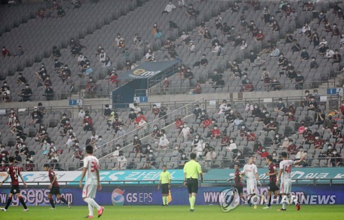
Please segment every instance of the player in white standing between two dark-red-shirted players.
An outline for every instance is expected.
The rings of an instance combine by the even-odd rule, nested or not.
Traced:
[[[251,206],[251,198],[252,196],[256,195],[257,191],[257,181],[259,186],[261,186],[261,182],[259,181],[258,170],[257,166],[254,164],[255,157],[250,156],[248,157],[248,164],[245,164],[244,170],[241,172],[242,175],[246,176],[246,184],[247,184],[247,194],[248,194],[248,205]],[[255,208],[257,206],[255,205]]]

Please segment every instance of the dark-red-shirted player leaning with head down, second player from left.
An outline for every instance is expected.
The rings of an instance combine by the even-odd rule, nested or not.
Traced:
[[[45,171],[49,173],[50,192],[47,194],[47,198],[49,199],[50,204],[52,204],[51,209],[55,209],[55,204],[54,204],[54,200],[52,199],[52,195],[55,195],[56,199],[60,199],[61,201],[63,201],[63,203],[67,204],[68,208],[70,208],[71,203],[68,202],[65,198],[61,197],[60,186],[58,186],[57,177],[55,175],[54,170],[50,168],[49,164],[44,164],[43,168]]]

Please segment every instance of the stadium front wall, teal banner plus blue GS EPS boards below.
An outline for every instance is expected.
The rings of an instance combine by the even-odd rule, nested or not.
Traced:
[[[100,179],[103,189],[97,193],[96,201],[102,205],[160,205],[161,192],[157,188],[161,170],[102,170]],[[171,205],[188,205],[188,192],[182,186],[183,170],[170,170],[173,181],[171,186]],[[197,204],[216,205],[224,199],[222,190],[233,188],[229,179],[233,169],[212,169],[206,173],[204,183],[197,195]],[[263,187],[258,188],[259,195],[266,195],[268,177],[266,168],[259,168],[259,178]],[[82,190],[78,188],[80,171],[56,171],[63,197],[76,206],[85,205],[81,198]],[[0,181],[6,173],[0,173]],[[47,200],[50,184],[47,172],[23,172],[28,188],[21,187],[21,194],[30,206],[50,206]],[[344,204],[344,170],[343,168],[293,168],[294,181],[292,192],[305,204]],[[330,181],[332,179],[332,181]],[[316,181],[314,181],[316,180]],[[330,184],[331,183],[331,184]],[[0,206],[5,205],[10,192],[10,181],[0,188]],[[246,188],[244,188],[244,194]],[[14,206],[19,204],[14,198]],[[277,203],[278,198],[272,202]],[[57,203],[61,201],[56,200]],[[264,203],[264,200],[261,200]],[[242,203],[247,203],[246,199]]]

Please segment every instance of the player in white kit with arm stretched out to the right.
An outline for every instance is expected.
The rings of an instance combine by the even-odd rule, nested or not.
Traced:
[[[281,195],[282,195],[282,208],[279,211],[286,211],[286,197],[289,197],[290,192],[292,192],[292,165],[297,165],[305,159],[305,157],[301,158],[298,161],[293,161],[292,159],[287,159],[288,153],[282,152],[281,153],[282,161],[279,163],[279,175],[276,180],[276,185],[279,184],[279,179],[281,179]],[[295,199],[295,205],[297,210],[300,210],[300,203]]]

